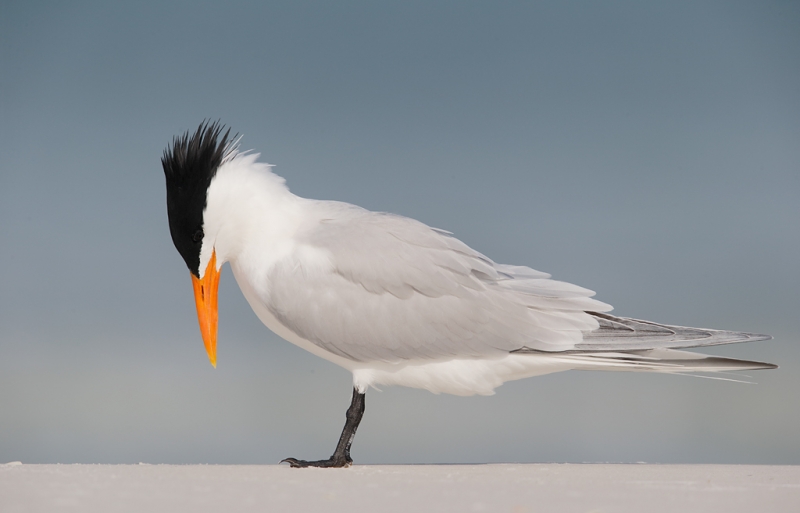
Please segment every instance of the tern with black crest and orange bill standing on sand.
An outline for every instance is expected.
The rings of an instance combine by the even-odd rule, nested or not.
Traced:
[[[594,292],[500,264],[452,233],[338,201],[292,194],[219,121],[174,136],[161,163],[175,248],[188,267],[200,333],[217,360],[222,265],[283,339],[353,375],[330,458],[348,467],[370,387],[491,395],[509,380],[567,370],[668,374],[774,369],[685,348],[772,337],[618,317]]]

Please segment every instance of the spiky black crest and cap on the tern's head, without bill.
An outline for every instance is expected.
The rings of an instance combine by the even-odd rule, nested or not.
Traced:
[[[203,121],[194,134],[176,136],[164,150],[161,165],[167,179],[169,232],[189,270],[200,276],[203,211],[211,179],[233,151],[230,129]]]

